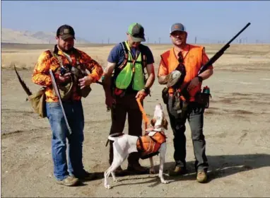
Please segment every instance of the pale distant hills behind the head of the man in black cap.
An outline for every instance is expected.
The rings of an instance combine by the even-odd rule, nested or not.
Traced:
[[[55,43],[54,32],[30,32],[28,30],[17,31],[8,28],[1,28],[1,42],[25,43],[25,44],[49,44]],[[90,43],[90,41],[76,36],[76,43]]]

